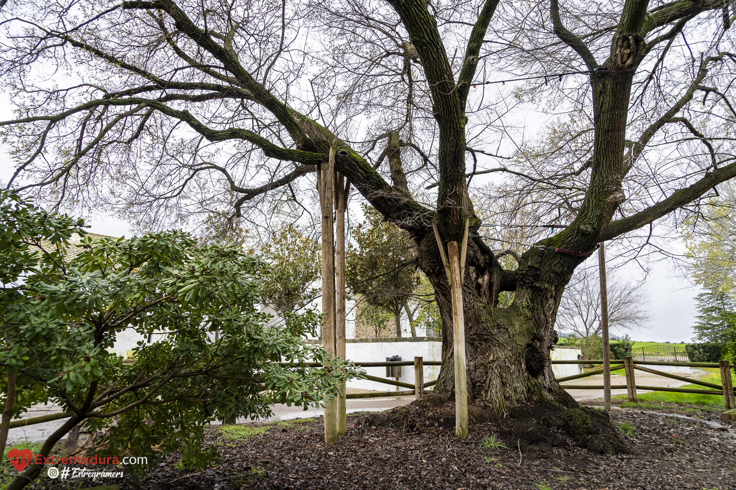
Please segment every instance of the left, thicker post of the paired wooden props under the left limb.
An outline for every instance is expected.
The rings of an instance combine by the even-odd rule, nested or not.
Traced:
[[[330,147],[330,159],[320,165],[319,206],[322,212],[322,347],[336,356],[335,345],[335,255],[333,248],[333,169],[335,148]],[[325,404],[325,443],[337,442],[337,400]]]

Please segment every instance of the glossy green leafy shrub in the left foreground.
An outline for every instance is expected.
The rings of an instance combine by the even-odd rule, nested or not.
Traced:
[[[269,264],[237,245],[183,231],[95,238],[79,220],[0,199],[0,392],[14,372],[13,417],[57,403],[75,413],[67,430],[107,429],[100,455],[178,451],[202,468],[216,453],[202,444],[210,422],[267,417],[273,403],[318,406],[359,373],[302,339],[316,334],[316,312],[268,325],[259,303]],[[138,342],[129,364],[110,352],[124,331],[160,335]],[[308,360],[323,367],[300,365]],[[39,474],[30,464],[11,485]]]

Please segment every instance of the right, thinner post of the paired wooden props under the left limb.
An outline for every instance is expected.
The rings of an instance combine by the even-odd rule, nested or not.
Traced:
[[[335,185],[335,285],[336,285],[336,323],[335,342],[337,356],[345,359],[345,179],[336,173]],[[345,383],[342,383],[341,396],[337,400],[337,431],[341,436],[347,432]]]

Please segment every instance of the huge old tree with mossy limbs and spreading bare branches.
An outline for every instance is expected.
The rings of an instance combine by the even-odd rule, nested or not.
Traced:
[[[723,0],[53,3],[5,13],[11,188],[114,205],[143,228],[255,222],[269,191],[314,199],[334,145],[336,170],[417,242],[447,397],[450,288],[432,226],[459,241],[470,218],[468,393],[488,413],[575,406],[548,355],[573,270],[736,176]],[[526,81],[485,83],[512,79]],[[536,146],[520,140],[530,108],[551,121]],[[469,182],[491,172],[542,223],[570,225],[515,269],[478,237]]]

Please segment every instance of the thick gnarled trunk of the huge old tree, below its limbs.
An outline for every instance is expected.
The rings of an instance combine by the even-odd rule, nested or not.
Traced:
[[[454,397],[450,288],[432,238],[420,243],[420,257],[442,312],[443,365],[436,392]],[[470,403],[489,415],[502,416],[520,403],[577,406],[555,381],[549,351],[557,341],[553,325],[562,291],[581,259],[550,254],[528,251],[510,272],[500,269],[481,240],[468,243],[463,284],[467,392]],[[502,290],[516,291],[509,308],[495,306]]]

